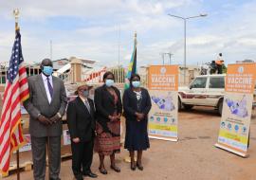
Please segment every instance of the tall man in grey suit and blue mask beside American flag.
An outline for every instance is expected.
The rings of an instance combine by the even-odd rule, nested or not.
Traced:
[[[42,73],[28,78],[30,97],[24,106],[30,116],[35,180],[46,177],[46,143],[49,145],[49,179],[60,180],[62,117],[67,103],[64,82],[52,76],[52,62],[41,63]]]

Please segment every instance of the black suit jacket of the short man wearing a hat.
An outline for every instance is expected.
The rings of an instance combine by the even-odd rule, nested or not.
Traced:
[[[90,112],[81,98],[70,101],[67,106],[67,125],[71,138],[79,137],[82,142],[92,140],[95,135],[95,108],[92,99],[88,99]]]

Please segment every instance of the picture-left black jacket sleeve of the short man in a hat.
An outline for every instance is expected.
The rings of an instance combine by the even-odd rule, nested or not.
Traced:
[[[76,108],[72,102],[70,102],[67,106],[66,119],[71,138],[78,137]]]

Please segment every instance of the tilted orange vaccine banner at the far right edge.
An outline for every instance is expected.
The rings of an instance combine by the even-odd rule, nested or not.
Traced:
[[[216,147],[247,156],[255,85],[255,63],[229,64]]]

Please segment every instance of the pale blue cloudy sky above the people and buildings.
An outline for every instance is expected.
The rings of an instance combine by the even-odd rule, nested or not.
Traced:
[[[137,64],[184,63],[182,17],[187,20],[187,64],[208,63],[223,53],[225,63],[256,60],[256,0],[1,0],[0,62],[14,41],[13,9],[26,62],[75,56],[101,65],[127,66],[137,32]],[[165,63],[169,57],[165,56]]]

